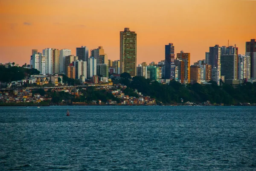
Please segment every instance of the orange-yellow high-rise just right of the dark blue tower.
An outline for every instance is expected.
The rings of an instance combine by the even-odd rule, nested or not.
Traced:
[[[177,53],[177,59],[184,61],[184,83],[190,83],[190,53],[180,51]]]

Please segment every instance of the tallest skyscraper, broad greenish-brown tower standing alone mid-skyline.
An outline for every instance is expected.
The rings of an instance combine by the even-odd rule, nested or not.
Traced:
[[[120,73],[128,72],[136,76],[137,66],[137,34],[125,28],[120,32]]]

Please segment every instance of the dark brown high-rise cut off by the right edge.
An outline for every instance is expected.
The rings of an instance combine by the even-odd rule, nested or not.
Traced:
[[[251,78],[256,78],[256,40],[251,39],[245,43],[245,55],[250,56]]]

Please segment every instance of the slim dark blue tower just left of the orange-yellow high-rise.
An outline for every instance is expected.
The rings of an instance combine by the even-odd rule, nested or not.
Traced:
[[[175,78],[175,53],[173,43],[165,45],[165,78],[174,79]]]

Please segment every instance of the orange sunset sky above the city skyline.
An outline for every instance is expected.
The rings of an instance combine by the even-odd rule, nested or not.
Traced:
[[[0,63],[29,64],[31,49],[103,46],[119,59],[119,32],[137,33],[137,64],[164,59],[164,45],[175,54],[191,53],[191,64],[209,46],[239,47],[256,38],[253,0],[0,0]],[[90,54],[89,54],[90,55]]]

